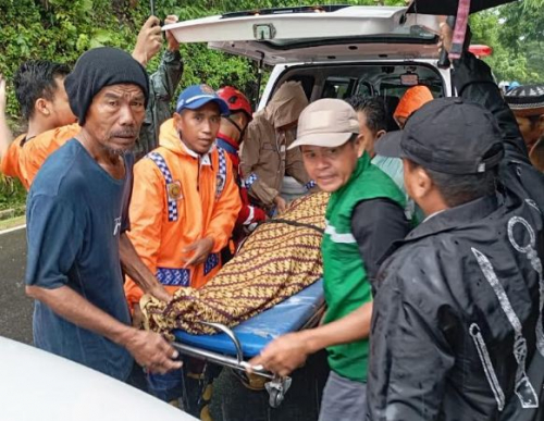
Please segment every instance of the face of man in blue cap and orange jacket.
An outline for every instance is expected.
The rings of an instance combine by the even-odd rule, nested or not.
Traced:
[[[182,141],[196,153],[207,153],[215,141],[221,114],[215,102],[208,102],[197,110],[183,110],[174,113],[174,124]]]

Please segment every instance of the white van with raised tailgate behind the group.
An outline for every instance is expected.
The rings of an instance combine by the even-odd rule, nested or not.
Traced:
[[[226,13],[168,25],[180,42],[273,66],[260,98],[264,108],[280,85],[301,83],[308,99],[384,98],[393,114],[415,85],[435,98],[452,96],[449,69],[438,69],[438,17],[390,7],[297,7]],[[282,196],[305,189],[286,176]]]

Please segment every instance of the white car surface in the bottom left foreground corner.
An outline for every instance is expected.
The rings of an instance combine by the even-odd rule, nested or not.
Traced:
[[[0,337],[2,421],[189,421],[196,418],[84,366]]]

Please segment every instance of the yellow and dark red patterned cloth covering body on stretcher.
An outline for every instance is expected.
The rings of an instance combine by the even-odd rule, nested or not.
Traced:
[[[281,216],[260,225],[238,253],[203,287],[182,287],[170,304],[149,295],[140,300],[148,330],[165,334],[182,329],[213,334],[200,321],[233,327],[319,280],[322,231],[329,194],[293,202]]]

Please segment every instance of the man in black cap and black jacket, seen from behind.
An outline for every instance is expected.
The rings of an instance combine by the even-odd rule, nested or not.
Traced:
[[[378,275],[368,420],[544,417],[544,181],[490,69],[455,66],[376,148],[428,216]]]

